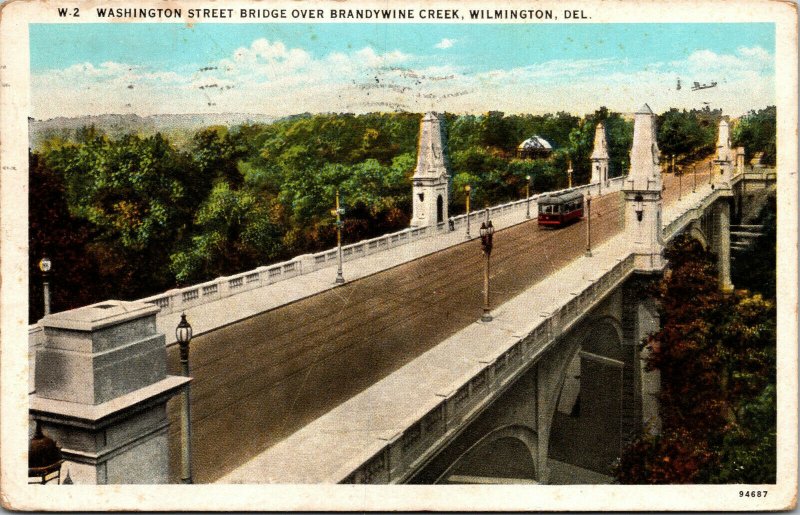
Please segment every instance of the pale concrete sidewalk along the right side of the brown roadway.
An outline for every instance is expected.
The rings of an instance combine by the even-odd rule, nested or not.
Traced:
[[[670,182],[670,179],[667,179]],[[665,225],[680,218],[692,206],[712,196],[708,184],[700,185],[692,194],[691,187],[677,202],[677,191],[665,192]],[[611,197],[604,199],[601,212],[608,215],[613,210]],[[601,222],[603,223],[603,222]],[[599,228],[603,234],[618,233],[620,224],[604,221]],[[582,251],[583,240],[570,241],[570,230],[563,232],[567,244]],[[579,236],[584,233],[578,231]],[[550,233],[553,238],[561,232]],[[428,441],[423,447],[435,448],[437,442],[452,438],[457,429],[480,412],[513,384],[515,376],[561,334],[576,324],[588,311],[587,304],[597,303],[633,273],[625,235],[616,234],[601,238],[605,241],[593,250],[591,257],[580,256],[566,266],[559,267],[539,282],[493,310],[490,323],[471,323],[452,334],[438,345],[384,377],[368,389],[333,408],[328,413],[302,427],[289,438],[254,457],[243,466],[219,479],[220,483],[339,483],[348,482],[354,470],[367,464],[377,475],[377,482],[402,482],[404,470],[391,465],[395,447],[407,450],[409,429],[428,425],[432,415],[444,418],[446,429],[414,438]],[[498,248],[500,243],[498,243]],[[552,256],[553,249],[545,255]],[[581,252],[582,253],[582,252]],[[570,253],[573,255],[574,253]],[[585,295],[592,289],[594,295]],[[581,303],[579,309],[573,299]],[[474,313],[478,311],[475,310]],[[540,314],[539,317],[531,313]],[[551,315],[555,315],[553,322]],[[544,331],[544,336],[540,335]],[[497,363],[503,363],[503,373],[496,372]],[[476,399],[463,393],[462,387],[470,385],[477,377],[486,376],[487,391]],[[402,394],[398,394],[402,392]],[[479,398],[477,398],[479,397]],[[424,462],[427,457],[415,459]],[[397,461],[395,458],[394,461]],[[371,465],[378,463],[378,465]],[[407,464],[406,464],[407,465]],[[413,467],[412,467],[413,468]],[[397,474],[397,475],[395,475]],[[376,478],[360,478],[372,482]]]

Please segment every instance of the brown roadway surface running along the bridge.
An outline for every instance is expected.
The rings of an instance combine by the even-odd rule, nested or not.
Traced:
[[[692,175],[683,179],[683,191],[690,192]],[[697,180],[707,182],[707,172],[698,172]],[[677,199],[678,181],[667,175],[664,183],[666,204]],[[617,234],[622,194],[595,198],[591,218],[593,245]],[[533,219],[498,231],[491,304],[530,288],[585,249],[585,220],[554,230],[540,229]],[[483,259],[480,240],[465,241],[195,338],[195,482],[223,476],[475,322]],[[180,370],[177,354],[176,347],[169,349],[173,374]],[[179,408],[170,401],[173,478],[179,471]]]

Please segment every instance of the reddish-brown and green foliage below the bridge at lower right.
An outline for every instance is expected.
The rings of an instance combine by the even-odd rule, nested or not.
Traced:
[[[775,306],[719,291],[693,240],[679,240],[667,257],[656,290],[662,327],[646,340],[647,368],[661,376],[663,431],[624,451],[617,480],[775,482]]]

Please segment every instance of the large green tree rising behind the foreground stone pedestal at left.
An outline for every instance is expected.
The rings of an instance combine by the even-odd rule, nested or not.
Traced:
[[[86,245],[100,284],[119,298],[169,286],[168,252],[203,197],[188,156],[161,134],[111,140],[85,131],[45,159],[64,178],[70,215],[91,228]],[[156,289],[157,288],[157,289]]]

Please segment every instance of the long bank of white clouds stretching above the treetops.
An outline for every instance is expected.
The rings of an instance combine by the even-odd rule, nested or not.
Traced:
[[[437,45],[451,48],[455,40]],[[211,66],[205,66],[205,65]],[[741,47],[697,50],[680,61],[558,59],[474,71],[435,56],[363,47],[314,55],[259,38],[203,68],[152,69],[119,62],[82,63],[31,77],[32,116],[252,112],[408,111],[592,112],[605,105],[627,112],[702,107],[737,114],[775,102],[774,56]],[[676,77],[685,85],[675,88]],[[692,92],[691,81],[719,86]],[[134,86],[130,88],[129,86]]]

